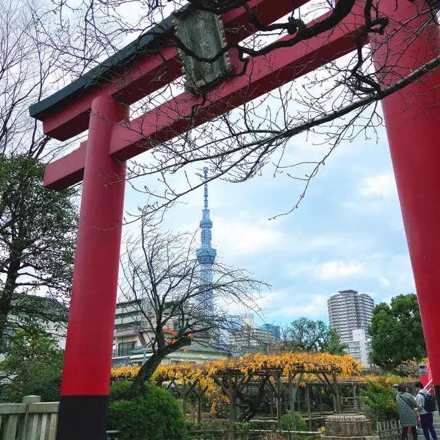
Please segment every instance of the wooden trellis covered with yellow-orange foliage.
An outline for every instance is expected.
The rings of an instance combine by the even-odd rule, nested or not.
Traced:
[[[137,369],[138,370],[138,369]],[[112,377],[129,379],[137,374],[135,367],[112,371]],[[161,365],[153,380],[157,385],[174,391],[183,402],[184,411],[190,395],[197,400],[197,421],[202,421],[202,399],[207,393],[217,404],[228,400],[230,421],[250,421],[265,405],[271,416],[276,408],[276,420],[281,425],[284,410],[291,413],[292,424],[296,422],[295,410],[300,399],[298,389],[305,387],[305,400],[309,429],[311,428],[311,399],[313,388],[318,388],[319,405],[322,410],[322,387],[333,397],[334,412],[341,412],[338,376],[353,377],[360,373],[361,366],[349,355],[329,353],[263,353],[248,354],[236,358],[213,360],[204,364]],[[344,384],[348,383],[344,381]],[[351,382],[350,382],[351,384]],[[355,387],[352,387],[355,392]],[[327,394],[328,395],[328,394]],[[214,398],[213,398],[214,397]],[[284,405],[284,408],[283,408]],[[233,434],[233,433],[232,433]],[[232,438],[232,437],[231,437]]]

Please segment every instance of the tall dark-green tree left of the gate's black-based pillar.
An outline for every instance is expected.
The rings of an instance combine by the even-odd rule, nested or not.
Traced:
[[[48,289],[68,298],[78,210],[76,190],[43,188],[44,164],[28,155],[0,155],[0,337],[17,326],[65,322],[67,313],[30,294]],[[28,295],[23,295],[28,294]],[[11,316],[14,316],[11,320]],[[19,319],[17,319],[19,317]]]

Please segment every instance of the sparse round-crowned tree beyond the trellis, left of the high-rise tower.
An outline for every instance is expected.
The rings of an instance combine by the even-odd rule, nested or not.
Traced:
[[[343,355],[347,346],[336,330],[321,320],[299,318],[283,328],[281,348],[285,351],[325,351]]]

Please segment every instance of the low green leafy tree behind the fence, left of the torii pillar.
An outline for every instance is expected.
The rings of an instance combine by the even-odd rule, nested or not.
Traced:
[[[0,362],[1,393],[7,401],[19,402],[25,395],[59,400],[64,351],[51,335],[39,327],[17,331],[8,352]]]

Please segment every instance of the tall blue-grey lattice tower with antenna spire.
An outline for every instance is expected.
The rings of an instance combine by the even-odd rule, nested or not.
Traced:
[[[197,249],[197,260],[200,263],[201,284],[204,287],[201,294],[201,307],[203,314],[212,314],[214,307],[214,298],[212,295],[212,264],[217,256],[217,251],[212,248],[212,221],[208,209],[208,167],[203,168],[205,185],[203,189],[203,211],[200,221],[201,228],[201,246]]]

